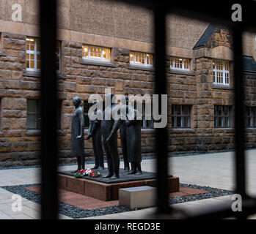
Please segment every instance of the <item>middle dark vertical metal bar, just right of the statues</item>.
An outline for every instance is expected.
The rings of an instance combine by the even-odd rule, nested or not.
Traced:
[[[166,12],[159,4],[154,10],[155,18],[155,53],[156,53],[156,94],[159,95],[158,106],[161,107],[161,94],[167,94],[166,78]],[[157,154],[157,194],[158,212],[167,213],[169,208],[168,162],[167,162],[167,127],[156,129]]]

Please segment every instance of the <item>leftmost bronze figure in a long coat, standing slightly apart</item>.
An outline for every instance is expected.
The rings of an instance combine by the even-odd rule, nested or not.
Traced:
[[[78,168],[77,170],[84,169],[84,113],[80,107],[80,97],[73,98],[73,105],[76,110],[72,116],[72,127],[71,127],[71,152],[72,156],[76,156]]]

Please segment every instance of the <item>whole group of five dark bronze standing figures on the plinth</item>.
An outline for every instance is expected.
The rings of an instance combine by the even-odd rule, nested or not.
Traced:
[[[89,121],[89,130],[87,139],[92,137],[92,147],[95,156],[95,167],[93,169],[103,170],[103,148],[106,154],[108,173],[105,178],[120,178],[120,158],[117,148],[117,130],[120,129],[120,140],[122,145],[122,155],[124,160],[124,169],[128,174],[141,175],[142,152],[141,152],[141,121],[138,120],[138,111],[128,105],[128,97],[125,97],[126,104],[117,105],[114,103],[114,94],[106,94],[106,98],[111,98],[111,106],[103,110],[102,120],[95,118]],[[98,101],[94,101],[95,105]],[[71,129],[71,149],[73,156],[76,156],[78,170],[84,169],[84,116],[80,107],[81,99],[73,98],[73,105],[76,110],[72,117]],[[125,110],[126,116],[122,119],[113,118],[111,113],[120,114]],[[96,112],[100,110],[95,110]],[[106,116],[111,116],[106,118]],[[102,148],[103,146],[103,148]],[[129,167],[131,163],[131,171]]]

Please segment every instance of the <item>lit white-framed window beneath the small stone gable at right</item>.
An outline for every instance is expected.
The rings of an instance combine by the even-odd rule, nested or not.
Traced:
[[[213,83],[218,85],[230,85],[230,66],[228,61],[213,61]]]

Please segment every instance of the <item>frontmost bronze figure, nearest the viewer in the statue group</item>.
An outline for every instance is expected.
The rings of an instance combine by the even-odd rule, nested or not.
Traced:
[[[106,98],[109,96],[114,97],[114,94],[106,94]],[[114,100],[112,100],[114,102]],[[106,153],[106,159],[108,162],[108,174],[103,176],[105,178],[119,178],[120,159],[117,151],[117,130],[120,127],[120,119],[114,120],[111,116],[112,111],[118,111],[120,107],[116,103],[111,102],[111,107],[106,107],[103,111],[103,120],[101,121],[101,133],[103,138],[103,146]],[[106,116],[111,116],[110,120],[106,119]]]

